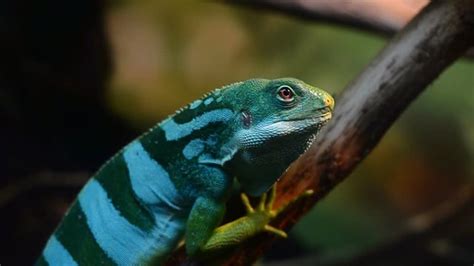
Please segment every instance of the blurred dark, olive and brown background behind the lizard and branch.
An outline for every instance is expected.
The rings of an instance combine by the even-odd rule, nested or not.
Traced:
[[[31,264],[90,174],[205,92],[291,76],[331,92],[337,108],[387,42],[274,12],[175,2],[0,4],[0,264]],[[474,181],[473,114],[474,61],[461,59],[264,263],[331,264],[376,250],[411,217],[449,202]],[[430,243],[447,255],[412,262],[472,264],[467,228]]]

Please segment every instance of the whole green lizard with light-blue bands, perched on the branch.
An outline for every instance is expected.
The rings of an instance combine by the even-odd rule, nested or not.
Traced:
[[[240,241],[232,230],[247,229],[215,231],[233,178],[253,196],[266,192],[308,147],[333,105],[326,92],[290,78],[214,90],[104,164],[39,264],[160,264],[183,237],[190,255],[203,251],[213,232],[211,248]]]

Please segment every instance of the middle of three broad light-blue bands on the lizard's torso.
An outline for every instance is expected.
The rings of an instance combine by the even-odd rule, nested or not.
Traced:
[[[94,179],[79,194],[79,204],[97,244],[118,265],[136,265],[168,254],[184,231],[184,220],[166,210],[154,213],[156,225],[151,232],[142,231],[121,216]]]

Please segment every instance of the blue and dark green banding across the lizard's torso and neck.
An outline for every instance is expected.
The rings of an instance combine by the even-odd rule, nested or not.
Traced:
[[[209,99],[183,110],[180,123],[164,121],[101,168],[80,192],[38,264],[131,265],[165,258],[182,238],[191,208],[173,183],[167,169],[171,160],[165,155],[176,153],[189,163],[217,143],[215,135],[200,140],[194,133],[202,135],[209,127],[215,131],[234,115],[217,108],[186,119],[186,111],[211,105],[214,99]],[[180,140],[182,144],[170,145]]]

